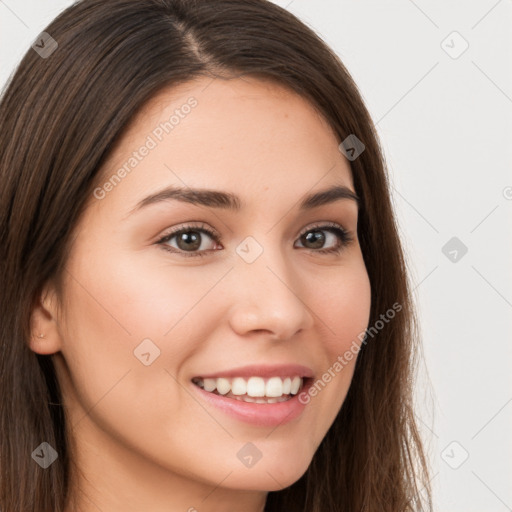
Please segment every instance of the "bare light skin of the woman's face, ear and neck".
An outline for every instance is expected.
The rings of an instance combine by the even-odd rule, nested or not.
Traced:
[[[105,163],[107,178],[190,96],[198,101],[190,114],[103,199],[91,198],[74,232],[63,295],[48,282],[32,313],[31,349],[53,354],[76,444],[77,504],[67,512],[262,511],[268,491],[308,468],[356,358],[301,416],[277,428],[193,399],[192,377],[297,363],[319,378],[368,325],[356,202],[297,209],[311,192],[354,187],[340,141],[295,93],[247,77],[161,91]],[[184,184],[235,193],[244,207],[171,200],[129,214],[151,193]],[[185,257],[158,245],[170,228],[193,221],[221,235],[216,242],[201,233],[200,250],[219,250]],[[353,241],[339,254],[318,253],[300,234],[321,222],[341,224]],[[321,248],[340,243],[322,233]],[[263,248],[251,264],[236,252],[248,236]],[[178,237],[167,246],[183,247]],[[146,338],[160,350],[149,366],[134,356]],[[251,468],[237,457],[247,442],[262,453]]]

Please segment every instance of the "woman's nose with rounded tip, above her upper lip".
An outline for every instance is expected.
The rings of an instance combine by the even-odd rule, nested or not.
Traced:
[[[232,329],[240,336],[259,332],[278,341],[310,328],[309,276],[297,274],[279,250],[266,249],[250,264],[239,259],[231,272]]]

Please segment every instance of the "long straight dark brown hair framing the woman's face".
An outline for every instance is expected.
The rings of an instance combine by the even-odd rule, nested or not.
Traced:
[[[369,325],[401,306],[362,345],[345,402],[306,473],[270,492],[265,510],[431,510],[413,412],[419,345],[408,272],[376,131],[339,58],[266,0],[83,0],[45,32],[58,47],[46,58],[29,49],[0,102],[1,509],[62,512],[69,496],[73,445],[59,382],[51,356],[28,346],[29,320],[44,283],[61,282],[102,163],[164,87],[245,74],[309,100],[340,142],[354,134],[364,143],[351,169]],[[47,469],[31,458],[42,442],[58,453]]]

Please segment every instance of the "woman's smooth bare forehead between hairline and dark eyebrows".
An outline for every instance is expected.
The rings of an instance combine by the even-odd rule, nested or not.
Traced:
[[[315,187],[353,188],[338,144],[315,107],[279,84],[203,77],[151,98],[116,144],[103,176],[128,170],[110,196],[121,196],[123,189],[130,203],[166,185],[242,196],[269,189],[296,201]],[[134,156],[144,147],[151,149]]]

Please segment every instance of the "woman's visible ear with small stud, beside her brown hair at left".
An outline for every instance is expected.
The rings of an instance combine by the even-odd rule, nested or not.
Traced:
[[[61,349],[58,324],[57,294],[51,284],[45,285],[34,301],[30,315],[29,347],[37,354],[54,354]]]

